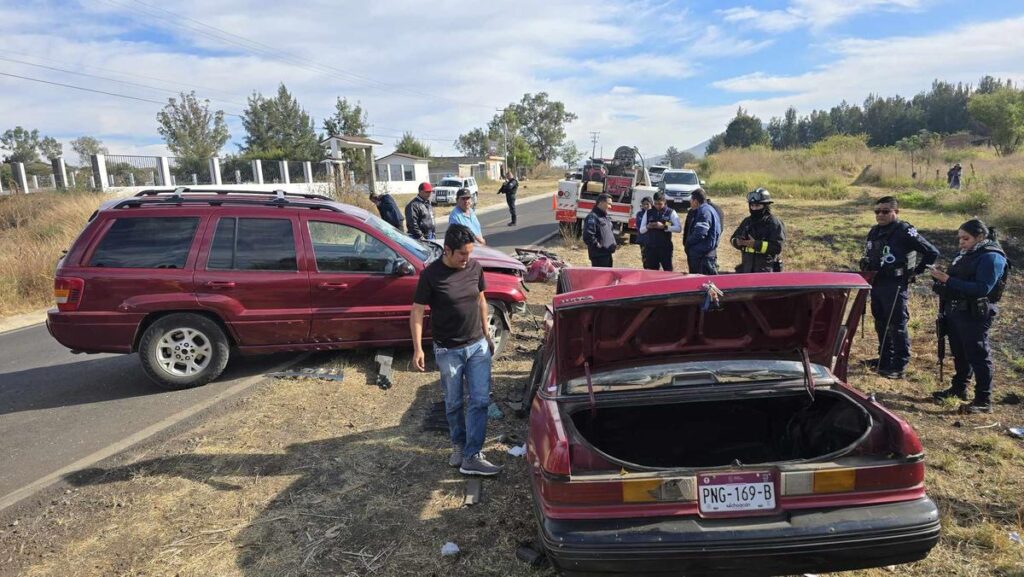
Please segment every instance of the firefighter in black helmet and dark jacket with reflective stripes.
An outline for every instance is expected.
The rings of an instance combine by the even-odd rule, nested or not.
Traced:
[[[782,270],[785,225],[771,213],[771,193],[757,189],[746,194],[751,215],[732,234],[729,243],[742,253],[737,273],[778,273]]]

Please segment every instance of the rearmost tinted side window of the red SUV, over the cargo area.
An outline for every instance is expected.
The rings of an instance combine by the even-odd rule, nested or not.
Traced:
[[[198,216],[118,218],[92,253],[90,266],[184,269]]]

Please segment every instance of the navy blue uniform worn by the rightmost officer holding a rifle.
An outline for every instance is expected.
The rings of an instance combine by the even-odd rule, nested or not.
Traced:
[[[995,289],[1006,267],[1007,255],[998,244],[979,243],[971,252],[962,252],[953,259],[943,291],[943,313],[956,369],[952,390],[957,395],[966,393],[973,376],[976,405],[991,403],[992,352],[988,329],[998,313],[995,302],[1001,294]]]

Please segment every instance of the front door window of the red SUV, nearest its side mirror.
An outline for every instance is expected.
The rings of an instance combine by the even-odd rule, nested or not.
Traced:
[[[393,273],[398,254],[358,229],[337,222],[309,222],[309,238],[321,273]]]

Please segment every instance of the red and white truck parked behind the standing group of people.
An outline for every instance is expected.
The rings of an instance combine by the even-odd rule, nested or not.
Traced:
[[[555,220],[563,235],[580,236],[583,219],[590,214],[597,196],[611,196],[608,217],[618,235],[629,235],[636,240],[636,214],[640,203],[651,198],[657,188],[651,184],[650,174],[644,167],[643,157],[635,147],[618,147],[610,159],[592,158],[583,169],[583,179],[559,180],[555,194]]]

